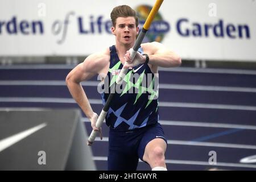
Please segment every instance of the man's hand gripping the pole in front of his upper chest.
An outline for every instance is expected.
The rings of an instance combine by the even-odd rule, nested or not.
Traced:
[[[130,48],[129,51],[126,51],[126,54],[124,57],[126,63],[123,66],[123,68],[130,68],[130,67],[133,68],[139,64],[145,63],[145,61],[146,61],[146,56],[141,55],[141,53],[139,53],[139,52],[137,52],[134,59],[131,60],[131,49],[133,49],[133,48]]]

